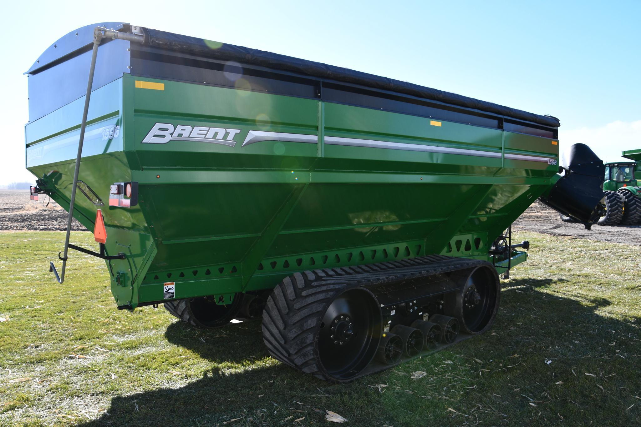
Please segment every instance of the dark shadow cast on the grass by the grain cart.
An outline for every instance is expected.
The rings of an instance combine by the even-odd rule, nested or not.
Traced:
[[[469,411],[473,407],[466,408],[465,405],[472,405],[470,402],[495,409],[475,412],[478,421],[485,425],[519,424],[528,419],[534,424],[545,424],[549,421],[546,416],[558,421],[560,414],[565,416],[565,424],[570,425],[638,423],[641,411],[638,408],[625,410],[626,406],[636,403],[633,398],[628,403],[627,396],[635,393],[638,396],[638,387],[634,384],[641,383],[638,370],[631,370],[638,363],[635,354],[638,353],[638,348],[635,350],[638,326],[595,313],[610,305],[606,298],[586,301],[576,299],[577,296],[564,298],[540,290],[566,281],[526,278],[512,280],[504,286],[501,309],[493,330],[462,342],[456,352],[470,363],[473,359],[503,360],[511,366],[501,364],[491,376],[486,374],[479,380],[477,375],[469,383],[462,383],[461,392],[454,395],[454,402],[452,399],[417,400],[411,394],[395,392],[392,387],[385,394],[371,388],[371,384],[399,381],[401,384],[402,381],[410,382],[401,385],[401,389],[411,388],[419,383],[397,371],[405,369],[410,373],[420,369],[427,371],[428,376],[433,375],[429,382],[435,382],[437,387],[432,391],[445,390],[451,385],[448,384],[450,381],[439,379],[436,364],[430,358],[407,362],[405,368],[401,365],[395,371],[385,371],[349,384],[331,385],[283,364],[274,364],[267,358],[259,321],[208,331],[173,323],[165,334],[168,341],[195,351],[212,363],[212,370],[183,387],[116,396],[106,410],[108,415],[83,425],[167,423],[203,426],[223,425],[237,419],[231,425],[271,426],[292,424],[294,419],[301,417],[304,417],[303,424],[325,424],[323,414],[314,408],[334,410],[349,419],[351,425],[424,425],[428,419],[429,424],[460,425],[469,420],[455,417],[447,407],[452,405],[458,410]],[[638,318],[633,321],[638,325]],[[616,346],[613,346],[613,340],[617,341]],[[557,353],[550,353],[551,348],[558,350]],[[615,357],[615,351],[622,357]],[[522,357],[520,362],[510,359],[514,355]],[[550,378],[552,368],[546,363],[547,357],[554,360],[552,368],[558,375],[554,380]],[[220,367],[224,362],[247,364],[247,369],[229,373]],[[457,369],[465,369],[465,364]],[[578,376],[572,376],[575,372]],[[583,376],[583,373],[594,373],[597,378]],[[616,375],[606,377],[610,373]],[[467,372],[457,375],[463,377]],[[566,384],[558,385],[559,378]],[[604,393],[596,389],[594,382],[583,383],[592,380],[598,381],[599,387],[601,384],[606,387]],[[514,384],[519,384],[522,390],[515,393]],[[598,397],[595,392],[600,393]],[[533,413],[531,403],[520,393],[543,396],[537,400],[545,402],[534,405],[538,407]],[[544,393],[549,394],[545,396]],[[532,418],[536,412],[540,417],[538,421]]]

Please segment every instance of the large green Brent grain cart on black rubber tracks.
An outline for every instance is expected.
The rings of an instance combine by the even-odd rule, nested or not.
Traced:
[[[262,316],[270,353],[326,380],[488,330],[537,197],[587,227],[603,209],[588,147],[557,173],[556,118],[453,93],[117,22],[26,74],[32,197],[99,242],[67,233],[58,281],[71,248],[118,309]]]

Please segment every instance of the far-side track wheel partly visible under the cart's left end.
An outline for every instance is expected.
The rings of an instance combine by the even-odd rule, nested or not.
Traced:
[[[243,294],[235,294],[233,302],[218,305],[212,296],[165,302],[172,315],[196,328],[218,328],[227,325],[242,307]]]

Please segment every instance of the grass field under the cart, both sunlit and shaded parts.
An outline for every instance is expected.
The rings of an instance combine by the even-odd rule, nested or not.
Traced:
[[[0,233],[0,424],[639,425],[641,248],[537,233],[488,334],[330,385],[272,359],[260,323],[194,330],[117,311],[104,263],[62,232]],[[72,241],[94,246],[92,235]]]

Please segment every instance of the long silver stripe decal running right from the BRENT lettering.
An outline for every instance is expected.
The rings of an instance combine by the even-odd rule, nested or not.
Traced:
[[[173,138],[172,138],[173,139]],[[183,139],[183,138],[181,138]],[[192,138],[185,138],[191,140]],[[315,144],[318,142],[317,135],[300,134],[300,133],[283,133],[283,132],[267,132],[267,131],[249,131],[242,147],[262,141],[283,141],[283,142],[303,142]],[[469,150],[469,149],[454,149],[451,147],[437,147],[435,145],[420,145],[408,144],[402,142],[390,141],[377,141],[377,140],[362,140],[359,138],[340,138],[338,136],[326,136],[325,143],[328,145],[343,145],[345,147],[369,147],[373,149],[390,149],[390,150],[406,150],[406,151],[422,151],[442,154],[459,154],[461,156],[479,156],[479,157],[492,157],[500,159],[501,153],[483,150]],[[538,156],[523,156],[520,154],[505,154],[506,159],[511,160],[524,160],[524,161],[540,161],[547,163],[549,160],[554,160],[549,157]]]

